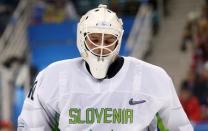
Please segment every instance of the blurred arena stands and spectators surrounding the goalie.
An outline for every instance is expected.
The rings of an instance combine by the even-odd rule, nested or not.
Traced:
[[[0,130],[16,130],[39,71],[80,56],[77,22],[100,3],[123,20],[120,54],[163,67],[195,131],[208,131],[208,0],[0,0]]]

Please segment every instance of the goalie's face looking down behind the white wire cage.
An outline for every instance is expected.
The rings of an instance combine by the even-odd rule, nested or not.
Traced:
[[[88,33],[85,36],[85,45],[94,55],[105,57],[111,54],[118,44],[118,38],[112,34]]]

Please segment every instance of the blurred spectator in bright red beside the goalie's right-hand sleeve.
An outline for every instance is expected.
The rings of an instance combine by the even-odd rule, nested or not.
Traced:
[[[187,85],[183,85],[181,88],[180,101],[189,120],[199,122],[201,120],[200,104]]]

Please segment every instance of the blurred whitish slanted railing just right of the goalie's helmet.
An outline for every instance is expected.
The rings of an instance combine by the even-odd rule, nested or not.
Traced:
[[[142,5],[137,12],[132,31],[127,40],[128,55],[143,59],[152,39],[152,11],[148,5]]]

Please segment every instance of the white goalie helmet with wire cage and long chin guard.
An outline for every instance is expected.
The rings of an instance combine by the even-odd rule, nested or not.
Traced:
[[[123,23],[106,5],[88,11],[77,27],[77,47],[96,79],[106,77],[117,57],[123,36]]]

